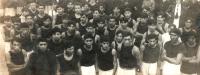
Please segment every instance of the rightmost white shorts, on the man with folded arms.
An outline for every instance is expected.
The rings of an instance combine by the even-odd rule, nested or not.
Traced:
[[[180,67],[181,65],[175,65],[164,61],[162,75],[181,75]]]

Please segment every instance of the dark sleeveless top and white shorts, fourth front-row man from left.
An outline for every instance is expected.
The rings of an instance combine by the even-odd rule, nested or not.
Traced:
[[[96,60],[96,46],[93,45],[93,49],[88,51],[81,47],[82,56],[81,56],[81,71],[82,75],[96,75],[95,71],[95,60]]]

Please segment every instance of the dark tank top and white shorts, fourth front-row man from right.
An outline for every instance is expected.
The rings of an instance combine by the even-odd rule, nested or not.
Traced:
[[[116,75],[135,75],[137,65],[137,58],[132,54],[134,46],[124,47],[122,45],[119,52],[118,61],[119,67]]]

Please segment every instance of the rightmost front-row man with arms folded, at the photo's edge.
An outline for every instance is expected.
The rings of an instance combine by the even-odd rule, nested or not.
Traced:
[[[197,75],[197,52],[199,49],[198,36],[194,32],[190,32],[186,36],[185,50],[183,53],[181,73],[182,75]]]

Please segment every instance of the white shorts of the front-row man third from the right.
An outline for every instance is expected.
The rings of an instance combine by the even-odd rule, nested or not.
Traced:
[[[156,75],[157,63],[142,63],[143,75]]]

